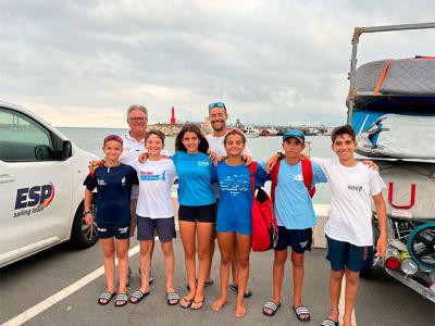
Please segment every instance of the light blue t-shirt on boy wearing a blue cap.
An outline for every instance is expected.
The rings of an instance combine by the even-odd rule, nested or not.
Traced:
[[[313,162],[311,164],[313,184],[326,183],[320,166]],[[275,188],[275,214],[277,224],[287,229],[310,228],[316,223],[311,197],[303,184],[300,162],[289,165],[285,160],[281,161]]]

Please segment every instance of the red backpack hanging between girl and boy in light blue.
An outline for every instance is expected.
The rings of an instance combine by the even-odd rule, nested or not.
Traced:
[[[266,251],[275,248],[278,239],[276,216],[268,192],[256,189],[257,162],[249,164],[248,170],[252,188],[252,251]]]

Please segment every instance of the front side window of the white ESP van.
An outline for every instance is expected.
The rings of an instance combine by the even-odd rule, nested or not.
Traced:
[[[0,108],[0,160],[7,162],[54,159],[50,133],[18,112]]]

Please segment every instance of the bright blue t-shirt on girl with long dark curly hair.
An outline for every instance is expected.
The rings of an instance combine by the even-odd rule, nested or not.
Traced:
[[[178,174],[178,202],[186,206],[215,202],[211,188],[213,164],[204,153],[177,151],[172,158]]]

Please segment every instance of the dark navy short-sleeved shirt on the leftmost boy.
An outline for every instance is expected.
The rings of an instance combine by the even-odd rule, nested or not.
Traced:
[[[115,167],[98,167],[94,176],[88,175],[83,184],[90,191],[97,187],[97,224],[129,223],[132,185],[138,183],[136,171],[122,163]]]

